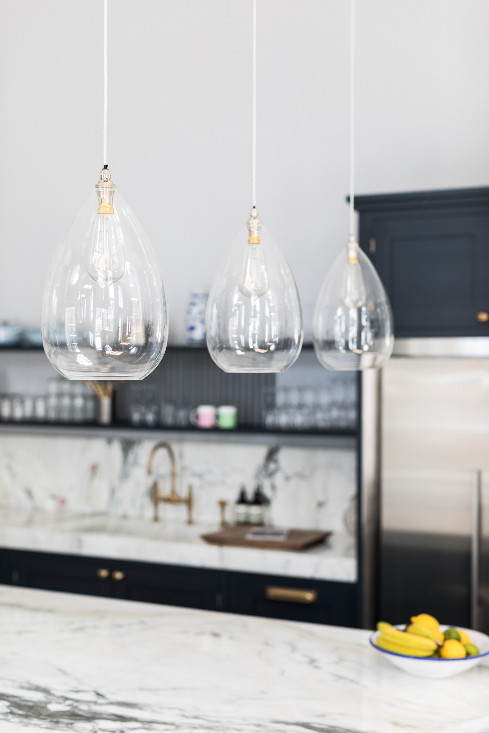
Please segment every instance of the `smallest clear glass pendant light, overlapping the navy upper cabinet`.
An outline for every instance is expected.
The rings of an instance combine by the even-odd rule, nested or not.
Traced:
[[[378,369],[394,348],[394,321],[383,284],[355,235],[354,174],[355,0],[350,39],[350,237],[316,301],[314,347],[323,367]]]

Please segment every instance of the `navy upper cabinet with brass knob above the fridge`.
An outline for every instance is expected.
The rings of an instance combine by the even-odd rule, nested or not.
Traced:
[[[358,196],[394,334],[489,336],[489,188]]]

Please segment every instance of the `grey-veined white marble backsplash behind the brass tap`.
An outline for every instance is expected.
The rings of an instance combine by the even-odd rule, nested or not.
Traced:
[[[147,458],[153,441],[115,438],[0,438],[0,507],[40,512],[151,518]],[[194,488],[194,520],[218,524],[218,501],[228,501],[227,520],[240,485],[257,482],[271,500],[269,519],[280,526],[351,528],[356,491],[352,450],[304,449],[223,443],[172,443],[177,490]],[[153,471],[169,492],[169,457],[156,454]],[[163,504],[163,520],[185,521],[185,507]],[[346,524],[345,524],[345,517]]]

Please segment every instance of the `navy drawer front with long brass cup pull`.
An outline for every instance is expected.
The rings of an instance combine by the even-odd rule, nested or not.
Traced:
[[[356,583],[229,573],[229,611],[272,619],[357,626]]]

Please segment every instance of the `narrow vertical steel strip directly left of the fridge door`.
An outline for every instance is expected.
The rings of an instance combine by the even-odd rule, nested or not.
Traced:
[[[380,369],[361,372],[360,547],[362,626],[377,622],[380,549]]]

